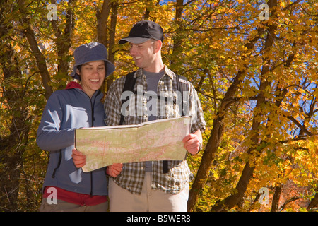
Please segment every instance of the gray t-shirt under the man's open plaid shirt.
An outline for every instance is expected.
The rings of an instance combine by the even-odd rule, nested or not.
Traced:
[[[160,80],[160,78],[163,78],[163,75],[165,74],[165,71],[160,71],[159,73],[153,73],[153,72],[148,72],[143,70],[143,73],[146,76],[147,79],[147,92],[148,91],[153,91],[155,93],[157,93],[157,88],[158,88],[158,82]],[[157,94],[158,95],[158,94]],[[149,97],[151,98],[151,97]],[[151,99],[148,99],[148,101]],[[156,115],[153,115],[149,112],[151,112],[151,107],[152,106],[148,106],[148,121],[153,121],[155,119],[157,119]],[[157,112],[156,112],[157,114]],[[152,164],[150,161],[146,162],[146,172],[152,172]]]

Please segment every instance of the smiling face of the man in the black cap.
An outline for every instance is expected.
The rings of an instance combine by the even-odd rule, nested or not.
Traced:
[[[130,54],[134,57],[136,66],[151,71],[156,57],[155,42],[155,40],[148,40],[141,44],[130,43]]]

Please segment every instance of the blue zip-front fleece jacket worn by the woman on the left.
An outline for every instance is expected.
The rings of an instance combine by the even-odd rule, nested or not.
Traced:
[[[76,84],[72,82],[66,90],[52,93],[37,129],[37,145],[49,151],[43,188],[57,186],[81,194],[105,196],[105,168],[83,172],[75,167],[71,157],[75,129],[105,126],[105,110],[101,102],[103,95],[98,90],[90,99]]]

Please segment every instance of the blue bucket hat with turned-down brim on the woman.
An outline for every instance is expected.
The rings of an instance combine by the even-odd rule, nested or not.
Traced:
[[[77,80],[80,80],[80,76],[76,73],[77,66],[88,62],[105,61],[107,64],[105,78],[113,73],[115,69],[114,64],[107,60],[106,47],[99,42],[90,42],[77,47],[74,51],[74,59],[75,64],[73,66],[73,71],[69,76],[76,78]]]

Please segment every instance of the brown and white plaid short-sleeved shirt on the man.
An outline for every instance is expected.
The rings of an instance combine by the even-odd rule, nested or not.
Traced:
[[[139,69],[136,71],[135,77],[136,84],[134,90],[137,91],[139,88],[143,88],[143,93],[147,91],[146,76],[143,75],[143,70]],[[105,123],[108,126],[119,125],[119,120],[121,117],[121,106],[122,106],[122,90],[124,88],[126,76],[118,78],[117,81],[114,81],[110,86],[110,90],[107,93],[105,100],[105,112],[107,118]],[[188,102],[188,115],[192,115],[192,126],[191,133],[198,131],[204,131],[205,121],[204,114],[201,109],[201,104],[199,97],[196,94],[196,90],[191,83],[189,85],[189,102]],[[158,94],[164,95],[165,97],[176,97],[178,90],[177,79],[175,73],[170,71],[170,69],[165,66],[165,75],[163,78],[160,78],[158,82]],[[138,96],[138,94],[137,94]],[[135,102],[135,114],[126,115],[124,124],[140,124],[144,121],[148,121],[147,114],[147,97],[142,96],[142,101],[134,100],[134,95],[131,95],[129,98],[130,103]],[[181,116],[179,111],[179,106],[170,102],[170,104],[162,105],[162,100],[158,99],[158,114],[157,119],[166,119],[171,117]],[[142,104],[141,104],[142,102]],[[165,102],[164,102],[165,103]],[[171,105],[172,103],[172,105]],[[141,194],[141,189],[143,186],[143,179],[145,177],[145,162],[131,162],[123,164],[122,172],[114,178],[114,181],[124,189],[127,189],[132,194]],[[185,186],[193,179],[193,174],[190,172],[187,161],[168,161],[169,172],[163,174],[163,161],[153,161],[153,182],[152,189],[160,189],[170,194],[178,194],[184,189]]]

